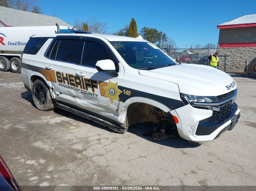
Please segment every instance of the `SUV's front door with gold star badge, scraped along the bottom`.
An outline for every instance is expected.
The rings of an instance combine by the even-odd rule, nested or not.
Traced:
[[[105,59],[111,59],[115,63],[117,77],[98,72],[96,62]],[[86,37],[81,64],[75,66],[75,78],[80,83],[80,90],[75,91],[76,105],[116,121],[120,87],[124,77],[124,71],[119,72],[119,68],[118,59],[105,42]]]

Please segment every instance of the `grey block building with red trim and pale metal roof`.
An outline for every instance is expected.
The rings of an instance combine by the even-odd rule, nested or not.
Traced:
[[[256,57],[256,14],[235,18],[217,28],[220,29],[220,67],[244,72],[245,64],[253,62]]]

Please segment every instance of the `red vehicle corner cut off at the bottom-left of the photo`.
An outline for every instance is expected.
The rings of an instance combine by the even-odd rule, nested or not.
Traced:
[[[0,154],[0,190],[21,191],[10,169]]]

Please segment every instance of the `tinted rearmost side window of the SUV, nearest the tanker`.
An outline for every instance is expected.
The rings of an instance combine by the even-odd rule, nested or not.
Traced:
[[[48,40],[48,38],[30,38],[25,46],[23,53],[32,55],[37,54],[46,40]]]

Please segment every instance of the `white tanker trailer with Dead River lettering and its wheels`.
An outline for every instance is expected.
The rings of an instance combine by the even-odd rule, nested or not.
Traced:
[[[59,26],[60,29],[69,29]],[[9,69],[21,72],[20,54],[22,54],[29,37],[34,34],[58,33],[56,26],[40,27],[0,27],[0,71]]]

